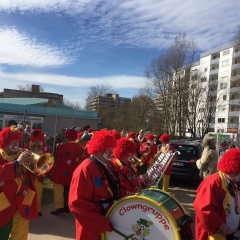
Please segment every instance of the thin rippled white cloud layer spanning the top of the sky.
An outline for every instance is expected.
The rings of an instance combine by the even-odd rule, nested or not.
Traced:
[[[203,50],[230,41],[240,2],[224,0],[1,0],[0,10],[67,14],[82,42],[163,49],[186,32]]]

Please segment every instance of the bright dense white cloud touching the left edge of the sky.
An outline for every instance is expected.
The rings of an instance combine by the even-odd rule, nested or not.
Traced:
[[[0,28],[0,43],[0,64],[55,67],[71,61],[57,47],[38,43],[14,28]]]

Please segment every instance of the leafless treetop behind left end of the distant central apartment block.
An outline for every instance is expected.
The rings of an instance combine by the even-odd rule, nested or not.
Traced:
[[[90,87],[90,90],[89,92],[87,92],[87,97],[85,99],[86,100],[85,109],[90,110],[89,106],[92,98],[97,96],[104,96],[108,93],[115,94],[116,92],[109,85],[101,85],[101,86],[97,85],[97,86]]]

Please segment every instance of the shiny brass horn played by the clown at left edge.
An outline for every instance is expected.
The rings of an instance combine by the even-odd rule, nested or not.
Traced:
[[[22,151],[22,149],[20,149]],[[50,153],[38,155],[33,153],[22,164],[24,168],[32,172],[36,176],[43,175],[51,170],[54,164],[54,157]]]

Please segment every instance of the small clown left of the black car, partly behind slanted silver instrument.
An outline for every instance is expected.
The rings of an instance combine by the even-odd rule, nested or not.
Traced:
[[[170,145],[170,136],[167,133],[164,133],[162,136],[160,136],[159,140],[162,144],[160,150],[158,151],[158,155],[166,151],[174,152],[174,147]],[[168,191],[170,176],[172,174],[172,164],[173,160],[169,163],[162,176],[162,190],[166,192]]]

